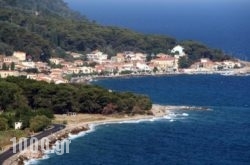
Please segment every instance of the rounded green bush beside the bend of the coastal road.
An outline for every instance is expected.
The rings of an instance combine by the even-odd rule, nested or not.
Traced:
[[[48,127],[50,123],[50,119],[46,116],[36,116],[30,120],[30,129],[34,132],[39,132]]]

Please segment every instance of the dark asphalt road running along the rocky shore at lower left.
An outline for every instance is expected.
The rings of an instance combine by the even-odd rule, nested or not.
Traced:
[[[46,137],[46,136],[49,136],[51,135],[52,133],[55,133],[55,132],[58,132],[62,129],[65,128],[64,125],[60,125],[60,124],[53,124],[52,125],[53,128],[49,129],[49,130],[46,130],[46,131],[43,131],[42,133],[36,135],[36,136],[32,136],[32,137],[36,137],[38,140],[41,140],[42,138]],[[28,138],[27,140],[27,144],[28,146],[30,145],[30,139],[31,137]],[[24,142],[23,142],[24,143]],[[22,143],[22,150],[24,149],[24,145]],[[17,144],[16,145],[16,153],[19,152],[19,145],[20,144]],[[1,155],[0,155],[0,165],[4,163],[5,160],[7,160],[8,158],[10,158],[11,156],[15,155],[16,153],[13,153],[13,150],[12,149],[8,149],[7,151],[3,152]]]

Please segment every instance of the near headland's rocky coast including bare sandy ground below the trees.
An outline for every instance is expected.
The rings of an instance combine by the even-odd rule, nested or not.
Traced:
[[[211,110],[206,107],[195,107],[195,106],[167,106],[167,105],[156,105],[154,104],[151,111],[153,115],[135,115],[135,116],[103,116],[103,115],[84,115],[86,121],[82,122],[70,122],[66,128],[63,130],[54,133],[52,135],[47,136],[50,140],[49,146],[50,150],[53,150],[53,147],[57,144],[58,141],[63,141],[65,139],[70,139],[75,136],[78,137],[81,133],[87,133],[88,131],[92,131],[93,127],[103,124],[111,124],[111,123],[127,123],[127,122],[140,122],[140,121],[154,121],[154,119],[163,119],[164,116],[171,114],[176,110]],[[60,115],[61,116],[61,115]],[[61,116],[62,117],[62,116]],[[64,118],[64,117],[63,117]],[[74,117],[70,117],[73,120]],[[91,118],[91,120],[90,120]],[[82,119],[80,119],[82,120]],[[24,151],[15,154],[9,159],[5,160],[3,165],[21,165],[21,164],[29,164],[31,160],[39,160],[44,159],[48,154],[48,151],[43,151],[43,149],[39,148],[38,152],[32,153],[29,149],[25,149]]]

